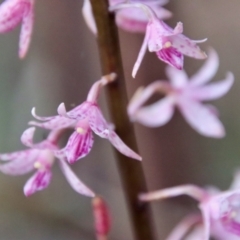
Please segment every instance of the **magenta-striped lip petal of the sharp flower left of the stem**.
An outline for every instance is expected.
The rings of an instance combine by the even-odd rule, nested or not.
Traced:
[[[85,134],[75,131],[69,138],[67,146],[63,150],[69,163],[75,163],[80,158],[89,154],[93,146],[92,130],[88,129]],[[61,151],[61,150],[60,150]]]

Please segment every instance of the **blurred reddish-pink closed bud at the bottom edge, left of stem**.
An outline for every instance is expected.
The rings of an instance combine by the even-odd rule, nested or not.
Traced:
[[[109,208],[102,197],[96,196],[92,199],[92,209],[97,239],[107,240],[111,229]]]

